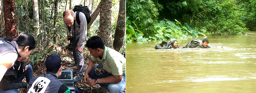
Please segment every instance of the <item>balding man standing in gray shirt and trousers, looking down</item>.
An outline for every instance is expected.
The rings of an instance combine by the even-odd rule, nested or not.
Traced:
[[[79,16],[80,24],[77,24],[75,20],[76,16]],[[75,64],[71,65],[70,67],[76,65],[74,82],[77,82],[83,77],[84,57],[82,52],[87,34],[87,21],[84,13],[80,12],[79,15],[76,15],[76,12],[74,13],[73,10],[64,11],[62,19],[64,21],[64,26],[66,27],[68,36],[71,36],[72,33],[72,36],[75,37],[73,45]]]

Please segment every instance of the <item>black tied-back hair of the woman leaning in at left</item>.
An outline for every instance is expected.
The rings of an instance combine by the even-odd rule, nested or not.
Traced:
[[[33,36],[28,33],[21,33],[17,37],[16,42],[18,46],[29,46],[29,50],[35,48],[35,40]]]

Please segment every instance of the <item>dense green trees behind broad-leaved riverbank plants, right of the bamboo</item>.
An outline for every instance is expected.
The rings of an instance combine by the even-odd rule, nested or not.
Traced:
[[[243,11],[249,10],[246,6],[249,5],[246,4],[247,1],[154,0],[155,3],[163,6],[160,11],[160,19],[172,21],[177,19],[181,23],[188,23],[188,25],[197,29],[206,29],[206,33],[215,35],[241,35],[246,33],[245,23],[248,14]],[[240,9],[241,7],[238,5],[243,5],[244,10]],[[253,15],[253,13],[251,14]]]

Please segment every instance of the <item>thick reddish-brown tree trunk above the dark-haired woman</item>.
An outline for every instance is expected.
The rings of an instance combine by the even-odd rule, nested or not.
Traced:
[[[3,0],[4,19],[5,19],[5,34],[6,37],[17,37],[16,22],[14,19],[14,0]]]

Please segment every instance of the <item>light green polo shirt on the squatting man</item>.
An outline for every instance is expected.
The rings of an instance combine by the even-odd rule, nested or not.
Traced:
[[[114,49],[105,46],[102,59],[93,56],[92,60],[101,62],[103,69],[108,73],[125,76],[126,60],[121,53]]]

